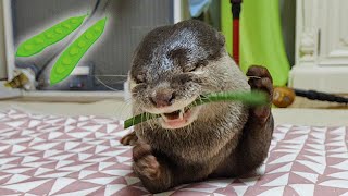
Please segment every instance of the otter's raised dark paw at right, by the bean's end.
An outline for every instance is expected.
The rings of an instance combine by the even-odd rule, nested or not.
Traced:
[[[265,91],[269,95],[270,105],[257,107],[252,110],[253,117],[258,118],[261,122],[265,122],[271,114],[271,102],[273,96],[273,81],[268,69],[260,65],[252,65],[247,72],[249,76],[249,85],[251,89]]]

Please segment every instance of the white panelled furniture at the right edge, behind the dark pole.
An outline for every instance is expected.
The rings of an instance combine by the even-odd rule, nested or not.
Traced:
[[[348,94],[348,2],[297,0],[290,87]]]

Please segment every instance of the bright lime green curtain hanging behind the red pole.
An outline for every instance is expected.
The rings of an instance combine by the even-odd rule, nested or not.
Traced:
[[[232,12],[229,0],[221,3],[221,27],[232,54]],[[244,0],[240,15],[240,69],[252,64],[269,69],[274,86],[285,86],[290,70],[286,56],[278,0]]]

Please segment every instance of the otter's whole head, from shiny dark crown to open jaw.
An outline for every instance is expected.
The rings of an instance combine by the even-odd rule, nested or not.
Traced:
[[[129,73],[135,110],[161,114],[164,128],[189,125],[200,107],[188,106],[201,94],[220,88],[211,87],[215,76],[210,70],[223,52],[223,37],[201,22],[152,30],[137,48]]]

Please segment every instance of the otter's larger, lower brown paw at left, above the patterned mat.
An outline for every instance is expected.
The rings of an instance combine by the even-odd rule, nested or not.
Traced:
[[[133,148],[134,171],[140,177],[158,180],[161,176],[160,163],[151,154],[151,147],[147,144],[137,144]]]

